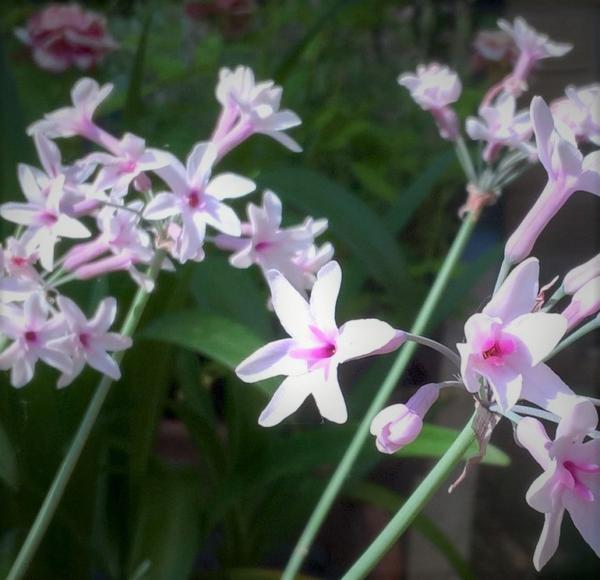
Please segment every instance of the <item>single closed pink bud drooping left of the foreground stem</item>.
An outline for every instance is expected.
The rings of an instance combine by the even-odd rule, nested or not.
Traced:
[[[396,453],[412,443],[421,433],[423,418],[438,399],[440,388],[436,384],[423,385],[406,402],[390,405],[381,410],[371,422],[371,435],[381,453]]]

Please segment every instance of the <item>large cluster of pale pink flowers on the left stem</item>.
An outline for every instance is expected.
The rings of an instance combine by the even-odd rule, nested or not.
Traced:
[[[21,164],[18,178],[24,201],[0,206],[0,216],[16,225],[0,246],[0,368],[22,387],[34,376],[38,360],[60,371],[58,386],[70,384],[87,365],[117,380],[120,370],[109,354],[131,346],[131,339],[109,329],[117,303],[104,299],[87,319],[63,295],[73,280],[127,272],[142,291],[153,289],[148,267],[204,259],[204,244],[234,251],[231,263],[276,267],[306,292],[316,272],[330,262],[330,244],[314,244],[326,220],[307,218],[282,228],[282,207],[270,191],[263,207],[250,204],[248,223],[228,205],[256,189],[233,173],[214,174],[223,156],[251,135],[263,133],[297,151],[283,131],[300,124],[280,110],[281,87],[256,83],[252,71],[223,69],[217,85],[222,111],[212,138],[196,144],[185,165],[172,153],[147,146],[137,135],[115,137],[94,120],[110,95],[90,78],[71,92],[72,105],[33,123],[41,167]],[[80,137],[100,150],[65,165],[56,140]],[[217,235],[207,237],[207,228]],[[163,258],[163,255],[165,257]],[[8,343],[8,344],[7,344]]]

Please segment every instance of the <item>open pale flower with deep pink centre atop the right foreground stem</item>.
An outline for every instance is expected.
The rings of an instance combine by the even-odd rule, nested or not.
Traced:
[[[502,410],[519,398],[562,415],[573,391],[542,360],[567,329],[560,314],[532,312],[538,295],[539,263],[519,264],[480,314],[465,324],[467,341],[457,344],[467,390],[485,379]]]

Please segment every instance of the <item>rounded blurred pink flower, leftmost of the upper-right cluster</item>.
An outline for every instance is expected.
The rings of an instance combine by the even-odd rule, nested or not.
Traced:
[[[404,73],[398,83],[410,91],[411,97],[424,110],[429,111],[444,139],[458,136],[458,118],[450,104],[458,100],[462,84],[458,75],[447,66],[419,65],[417,73]]]

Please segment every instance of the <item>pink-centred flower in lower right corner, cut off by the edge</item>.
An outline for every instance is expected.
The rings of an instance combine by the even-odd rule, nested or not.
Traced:
[[[544,528],[533,556],[541,570],[554,555],[565,510],[583,539],[600,557],[600,439],[583,442],[598,424],[589,401],[572,405],[550,440],[544,426],[532,417],[517,425],[517,439],[544,473],[527,491],[527,503],[544,514]]]

